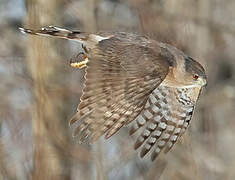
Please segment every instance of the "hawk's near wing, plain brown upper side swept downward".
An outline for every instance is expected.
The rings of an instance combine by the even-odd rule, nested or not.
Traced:
[[[109,138],[134,120],[169,66],[157,48],[115,37],[101,41],[88,58],[81,102],[70,124],[81,141],[93,142],[104,134]]]

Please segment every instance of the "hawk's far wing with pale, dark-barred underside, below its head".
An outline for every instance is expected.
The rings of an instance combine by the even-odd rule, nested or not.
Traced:
[[[135,143],[140,156],[151,151],[154,160],[165,149],[167,153],[189,126],[201,88],[171,88],[159,86],[149,96],[145,108],[137,117],[130,134],[144,126]]]

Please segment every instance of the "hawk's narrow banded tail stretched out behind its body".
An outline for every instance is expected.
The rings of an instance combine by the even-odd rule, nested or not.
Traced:
[[[40,36],[54,36],[58,38],[64,38],[74,41],[79,41],[80,43],[84,43],[88,40],[89,34],[81,31],[71,31],[63,28],[59,28],[56,26],[47,26],[43,27],[40,30],[32,30],[26,28],[19,28],[20,31],[24,34],[31,35],[40,35]]]

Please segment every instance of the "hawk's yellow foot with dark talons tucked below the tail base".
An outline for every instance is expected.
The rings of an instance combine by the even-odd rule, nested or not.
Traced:
[[[70,65],[74,68],[82,69],[86,67],[88,57],[84,52],[80,52],[76,57],[70,60]]]

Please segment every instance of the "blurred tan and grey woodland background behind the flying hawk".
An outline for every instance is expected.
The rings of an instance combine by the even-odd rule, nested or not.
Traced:
[[[0,179],[235,179],[234,9],[234,0],[0,0]],[[81,45],[18,30],[47,25],[139,32],[204,65],[208,86],[170,153],[140,159],[128,127],[94,145],[72,138],[84,70],[69,60]]]

